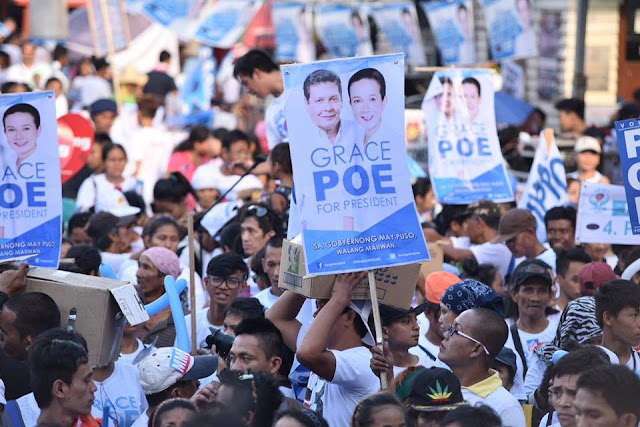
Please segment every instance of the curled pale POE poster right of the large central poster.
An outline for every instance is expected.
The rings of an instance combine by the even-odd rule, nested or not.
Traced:
[[[496,130],[493,71],[451,69],[434,73],[422,111],[429,175],[440,203],[513,200]]]

